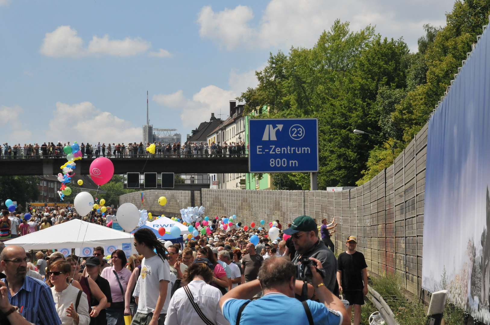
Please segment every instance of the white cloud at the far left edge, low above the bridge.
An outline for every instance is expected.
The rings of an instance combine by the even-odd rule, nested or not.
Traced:
[[[25,123],[22,121],[22,113],[24,110],[19,106],[0,107],[0,136],[3,139],[9,141],[21,141],[32,137],[32,132],[25,127]],[[9,142],[7,141],[7,142]]]

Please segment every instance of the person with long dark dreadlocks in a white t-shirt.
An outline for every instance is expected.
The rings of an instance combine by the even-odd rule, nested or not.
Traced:
[[[131,325],[164,325],[172,289],[165,247],[149,228],[134,233],[134,247],[144,258],[138,309]]]

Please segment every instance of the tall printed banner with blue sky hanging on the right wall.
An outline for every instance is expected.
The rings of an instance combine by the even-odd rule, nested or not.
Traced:
[[[429,121],[422,287],[490,323],[490,40],[487,29]]]

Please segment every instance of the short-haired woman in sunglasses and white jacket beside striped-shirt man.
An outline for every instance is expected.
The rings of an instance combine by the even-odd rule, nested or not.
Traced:
[[[48,277],[56,311],[63,325],[89,325],[87,295],[68,283],[72,267],[65,260],[57,260],[49,266]]]

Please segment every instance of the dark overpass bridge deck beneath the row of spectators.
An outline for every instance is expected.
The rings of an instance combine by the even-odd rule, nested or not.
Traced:
[[[175,174],[221,174],[248,173],[248,157],[132,157],[109,158],[114,164],[114,174],[175,173]],[[78,175],[88,175],[95,158],[75,161]],[[58,175],[66,158],[0,159],[0,176]]]

